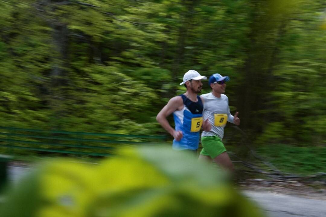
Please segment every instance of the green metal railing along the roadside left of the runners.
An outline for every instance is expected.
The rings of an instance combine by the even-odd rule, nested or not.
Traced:
[[[33,154],[46,152],[109,156],[122,145],[157,145],[166,136],[88,133],[57,130],[0,127],[0,152],[7,154]],[[25,151],[23,151],[25,150]],[[28,152],[30,154],[30,152]]]

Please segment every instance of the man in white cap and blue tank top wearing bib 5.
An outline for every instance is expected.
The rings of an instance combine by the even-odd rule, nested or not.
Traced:
[[[173,149],[197,151],[201,127],[204,130],[211,129],[208,119],[203,121],[202,111],[204,102],[197,95],[201,93],[201,79],[207,79],[207,77],[201,76],[195,70],[186,72],[180,85],[184,84],[187,91],[184,94],[171,98],[168,104],[156,116],[156,120],[174,137]],[[167,120],[167,116],[172,113],[175,129],[170,126]]]

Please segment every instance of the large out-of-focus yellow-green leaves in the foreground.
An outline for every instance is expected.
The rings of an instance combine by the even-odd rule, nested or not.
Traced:
[[[170,147],[120,150],[100,165],[48,161],[8,191],[2,217],[256,217],[225,174]]]

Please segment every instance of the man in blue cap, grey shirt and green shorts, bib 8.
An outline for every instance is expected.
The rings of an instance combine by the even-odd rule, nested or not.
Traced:
[[[208,85],[212,92],[203,94],[201,97],[205,100],[203,118],[208,118],[212,124],[211,130],[205,130],[201,133],[202,150],[200,152],[200,161],[214,161],[224,169],[233,171],[233,164],[222,142],[224,127],[227,121],[240,124],[238,112],[235,115],[230,114],[229,99],[223,93],[225,92],[226,82],[230,80],[229,76],[214,74],[209,78]]]

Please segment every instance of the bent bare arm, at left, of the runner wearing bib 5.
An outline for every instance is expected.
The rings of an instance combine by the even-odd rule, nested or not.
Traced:
[[[175,140],[179,141],[183,134],[181,131],[175,131],[169,124],[167,116],[171,115],[175,110],[180,110],[183,107],[183,100],[180,96],[173,97],[169,100],[162,110],[156,115],[156,120],[160,125],[168,131]]]

